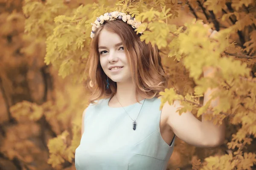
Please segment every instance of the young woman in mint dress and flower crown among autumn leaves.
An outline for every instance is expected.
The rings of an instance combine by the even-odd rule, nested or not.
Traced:
[[[179,116],[178,101],[159,109],[166,75],[157,46],[141,42],[134,31],[140,24],[118,11],[92,24],[92,96],[82,117],[77,170],[166,170],[175,136],[197,147],[215,147],[224,139],[223,126],[190,112]]]

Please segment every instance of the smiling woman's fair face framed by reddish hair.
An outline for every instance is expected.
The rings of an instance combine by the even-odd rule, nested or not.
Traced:
[[[105,28],[99,34],[99,60],[105,74],[114,82],[131,81],[131,70],[122,40],[118,34]],[[112,66],[122,68],[110,70]]]

